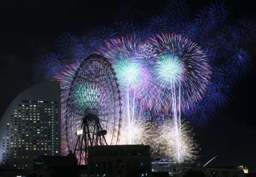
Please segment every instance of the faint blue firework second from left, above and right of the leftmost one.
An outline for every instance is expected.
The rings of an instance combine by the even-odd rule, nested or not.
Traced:
[[[56,46],[60,49],[61,53],[72,55],[74,49],[81,45],[80,39],[71,32],[62,33],[56,40]]]

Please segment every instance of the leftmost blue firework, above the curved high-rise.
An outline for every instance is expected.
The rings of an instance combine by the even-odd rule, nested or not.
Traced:
[[[37,58],[34,64],[37,77],[43,77],[49,80],[53,79],[55,74],[62,72],[66,65],[65,55],[55,54],[54,52],[45,53]]]

